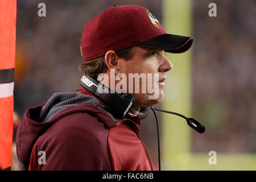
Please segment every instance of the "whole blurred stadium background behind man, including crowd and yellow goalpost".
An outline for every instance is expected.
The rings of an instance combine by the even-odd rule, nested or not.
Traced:
[[[38,3],[46,3],[46,17]],[[209,3],[217,17],[210,17]],[[15,131],[24,111],[46,102],[55,92],[79,88],[77,65],[83,63],[80,39],[85,23],[112,5],[139,5],[158,18],[167,32],[193,36],[192,49],[167,53],[164,101],[157,105],[203,123],[197,134],[182,118],[157,113],[163,170],[255,170],[256,102],[254,1],[18,0],[14,86]],[[142,121],[142,139],[158,169],[154,115]],[[217,164],[210,165],[209,151]]]

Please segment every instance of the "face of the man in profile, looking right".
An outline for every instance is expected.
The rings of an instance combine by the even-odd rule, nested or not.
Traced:
[[[121,73],[127,77],[127,92],[134,96],[135,104],[138,107],[149,107],[158,104],[164,97],[163,81],[166,80],[166,72],[170,71],[173,66],[164,55],[163,50],[135,46],[133,52],[133,57],[130,60],[118,60],[118,64],[121,65]],[[135,81],[134,77],[129,77],[129,75],[134,75],[135,77],[141,75],[141,78],[139,78],[138,82]],[[143,92],[145,84],[146,92]],[[139,87],[139,93],[138,90],[137,93],[135,92],[136,87]]]

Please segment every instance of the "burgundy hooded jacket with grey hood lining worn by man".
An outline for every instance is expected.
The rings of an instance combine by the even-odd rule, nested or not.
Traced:
[[[16,134],[18,159],[28,170],[154,170],[139,135],[141,119],[111,113],[83,88],[55,93],[25,111]]]

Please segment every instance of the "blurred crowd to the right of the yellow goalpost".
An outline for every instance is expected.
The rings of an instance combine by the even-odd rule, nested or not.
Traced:
[[[256,2],[193,1],[193,114],[207,126],[193,151],[256,152]]]

